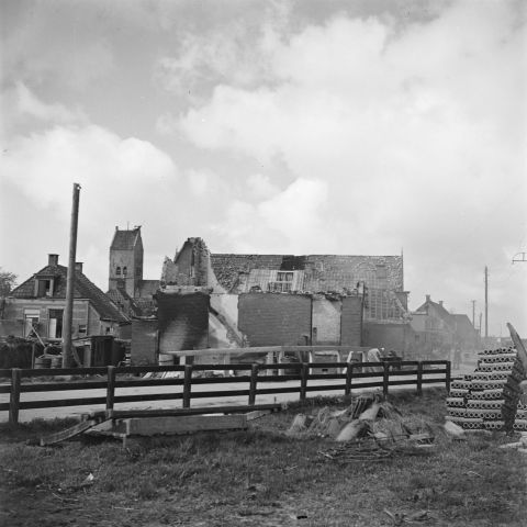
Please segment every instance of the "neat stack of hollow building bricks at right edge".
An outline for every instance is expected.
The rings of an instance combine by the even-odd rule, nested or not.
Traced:
[[[489,349],[478,355],[480,358],[474,372],[451,383],[447,419],[463,429],[512,430],[518,426],[515,417],[519,383],[525,378],[524,366],[512,347]],[[524,412],[523,404],[520,412]],[[527,412],[520,415],[527,416]]]

